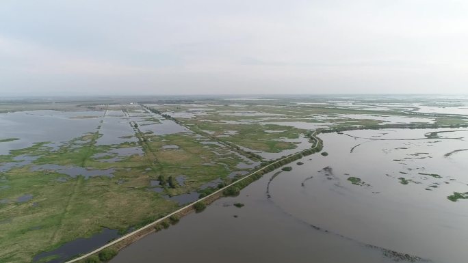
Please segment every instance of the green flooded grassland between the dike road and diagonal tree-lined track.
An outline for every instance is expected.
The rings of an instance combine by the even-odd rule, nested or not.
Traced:
[[[0,261],[64,262],[259,164],[141,105],[0,123]]]

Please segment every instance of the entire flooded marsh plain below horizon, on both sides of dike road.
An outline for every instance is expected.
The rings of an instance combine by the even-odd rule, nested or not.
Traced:
[[[468,258],[463,99],[140,100],[0,105],[0,262],[88,253],[313,147],[314,132],[322,154],[270,171],[112,262]],[[460,111],[447,114],[450,105]]]

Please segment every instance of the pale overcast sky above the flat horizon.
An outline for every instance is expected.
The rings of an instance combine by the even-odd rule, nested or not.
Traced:
[[[466,0],[0,0],[0,96],[468,93]]]

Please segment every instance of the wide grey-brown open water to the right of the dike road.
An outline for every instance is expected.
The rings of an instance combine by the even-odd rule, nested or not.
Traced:
[[[435,131],[443,133],[425,136]],[[466,129],[320,137],[328,156],[265,174],[239,196],[138,240],[111,262],[378,263],[406,253],[467,262],[468,200],[447,199],[468,192]]]

